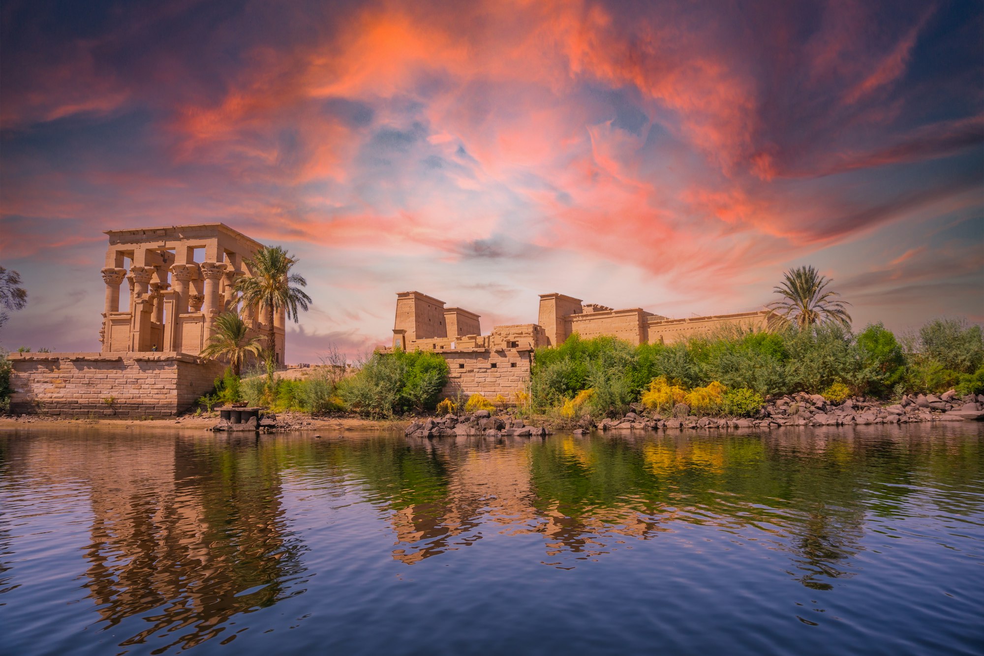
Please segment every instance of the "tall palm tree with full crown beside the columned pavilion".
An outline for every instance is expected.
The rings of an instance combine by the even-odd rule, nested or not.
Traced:
[[[299,288],[307,287],[307,281],[297,274],[290,273],[290,268],[297,264],[297,258],[292,257],[280,246],[262,246],[246,260],[250,276],[236,281],[235,291],[239,293],[243,309],[254,305],[262,305],[267,315],[267,352],[268,359],[273,361],[277,350],[277,333],[274,330],[274,314],[285,309],[287,318],[293,318],[297,323],[297,308],[307,310],[311,296],[304,294]],[[293,287],[293,286],[299,287]]]

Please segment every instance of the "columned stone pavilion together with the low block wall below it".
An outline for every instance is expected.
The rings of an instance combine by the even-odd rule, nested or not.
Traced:
[[[223,224],[106,234],[101,352],[12,354],[12,412],[172,417],[221,375],[224,363],[198,354],[215,317],[234,307],[233,284],[250,275],[245,261],[261,244]],[[262,308],[243,314],[251,337],[266,336]],[[278,362],[285,318],[275,314]]]

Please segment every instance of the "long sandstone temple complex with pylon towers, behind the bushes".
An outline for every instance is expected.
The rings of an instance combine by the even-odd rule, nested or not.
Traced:
[[[383,351],[440,353],[451,369],[445,397],[478,393],[515,403],[519,392],[528,391],[533,350],[563,344],[575,333],[584,339],[610,335],[637,346],[671,344],[725,324],[766,330],[772,316],[759,310],[669,319],[641,307],[612,309],[574,296],[542,294],[537,323],[496,326],[482,335],[474,312],[445,307],[443,300],[419,292],[400,292],[393,343]]]

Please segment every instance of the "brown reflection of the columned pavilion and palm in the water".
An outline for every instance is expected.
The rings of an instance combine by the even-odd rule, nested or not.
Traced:
[[[237,613],[303,592],[289,586],[305,548],[283,517],[276,451],[168,445],[114,450],[111,469],[92,472],[86,587],[105,627],[151,613],[121,645],[181,626],[172,644],[190,647]]]

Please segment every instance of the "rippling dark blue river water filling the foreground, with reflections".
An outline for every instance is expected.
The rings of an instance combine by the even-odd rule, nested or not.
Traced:
[[[0,653],[980,654],[984,426],[0,432]]]

